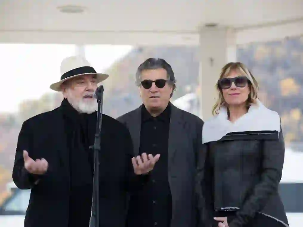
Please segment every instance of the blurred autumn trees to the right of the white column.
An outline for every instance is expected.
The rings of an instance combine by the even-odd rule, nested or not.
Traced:
[[[286,142],[303,141],[303,37],[238,47],[238,61],[251,69],[260,99],[281,116]]]

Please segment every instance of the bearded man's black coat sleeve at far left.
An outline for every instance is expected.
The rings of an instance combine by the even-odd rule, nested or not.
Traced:
[[[22,124],[17,148],[15,153],[15,162],[13,167],[13,181],[19,189],[31,189],[35,186],[35,182],[40,179],[39,175],[29,173],[24,167],[23,150],[31,156],[32,150],[32,130],[27,121]]]

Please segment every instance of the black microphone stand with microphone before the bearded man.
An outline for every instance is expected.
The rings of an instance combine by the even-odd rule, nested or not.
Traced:
[[[95,91],[94,97],[98,102],[97,111],[97,126],[95,133],[94,145],[90,146],[90,149],[94,150],[94,183],[93,183],[93,195],[92,195],[92,212],[89,221],[89,227],[99,227],[99,152],[101,151],[101,127],[102,127],[102,105],[103,105],[103,91],[104,88],[101,85]]]

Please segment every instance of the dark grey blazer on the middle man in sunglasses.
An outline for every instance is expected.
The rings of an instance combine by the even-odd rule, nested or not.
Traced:
[[[141,107],[118,118],[128,127],[134,144],[134,155],[139,153]],[[172,196],[172,227],[195,227],[197,204],[195,199],[195,170],[201,151],[203,121],[171,104],[168,138],[168,182]],[[161,157],[160,157],[161,158]]]

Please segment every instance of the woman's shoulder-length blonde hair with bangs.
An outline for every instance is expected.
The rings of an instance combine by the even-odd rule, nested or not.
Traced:
[[[250,106],[251,104],[256,103],[257,98],[258,98],[259,85],[258,85],[258,82],[256,81],[255,77],[248,70],[248,68],[241,62],[230,62],[222,68],[219,80],[224,77],[227,77],[229,72],[231,72],[231,71],[240,71],[242,76],[246,76],[248,78],[248,80],[250,81],[250,83],[248,83],[248,88],[250,90],[250,93],[248,95],[247,105]],[[218,80],[218,82],[219,82],[219,80]],[[222,94],[222,90],[219,87],[218,82],[216,84],[216,89],[218,91],[218,99],[212,109],[213,115],[218,114],[218,111],[220,110],[220,108],[222,106],[226,106],[226,103],[225,103],[225,100],[224,100],[224,97]]]

